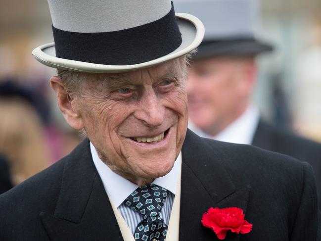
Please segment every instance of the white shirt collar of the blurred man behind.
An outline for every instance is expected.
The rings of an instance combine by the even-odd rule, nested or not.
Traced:
[[[260,114],[255,106],[248,106],[244,113],[233,121],[227,128],[216,136],[210,136],[189,121],[188,128],[200,137],[215,139],[221,142],[252,144],[256,128],[259,124]]]

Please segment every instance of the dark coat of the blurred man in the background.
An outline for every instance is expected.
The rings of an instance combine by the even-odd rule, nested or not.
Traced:
[[[321,210],[321,144],[259,121],[252,145],[308,162],[314,171]]]

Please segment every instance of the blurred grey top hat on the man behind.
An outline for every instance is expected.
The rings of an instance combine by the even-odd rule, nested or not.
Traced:
[[[218,55],[254,56],[273,50],[255,36],[259,22],[256,0],[175,0],[177,11],[197,16],[205,37],[194,59]]]

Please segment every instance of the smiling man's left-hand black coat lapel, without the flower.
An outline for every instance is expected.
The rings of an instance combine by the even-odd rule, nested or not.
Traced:
[[[122,241],[114,212],[92,162],[89,140],[65,161],[59,198],[53,215],[40,218],[51,241]]]

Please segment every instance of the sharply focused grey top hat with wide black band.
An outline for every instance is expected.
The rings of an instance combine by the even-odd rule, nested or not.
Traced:
[[[80,72],[126,72],[182,56],[204,26],[170,0],[48,0],[54,43],[35,48],[41,63]]]

